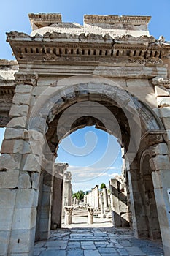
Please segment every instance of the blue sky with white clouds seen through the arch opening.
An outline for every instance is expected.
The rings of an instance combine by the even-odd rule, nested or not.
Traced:
[[[64,138],[57,162],[68,162],[72,187],[88,190],[121,173],[122,159],[117,138],[95,127],[85,127]]]

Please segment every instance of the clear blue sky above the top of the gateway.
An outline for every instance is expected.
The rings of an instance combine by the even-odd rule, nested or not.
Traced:
[[[23,31],[29,34],[31,26],[28,13],[58,12],[63,21],[82,23],[84,14],[100,15],[151,15],[150,34],[158,38],[163,35],[170,41],[169,0],[8,0],[1,1],[0,56],[12,59],[12,51],[6,41],[6,31]]]

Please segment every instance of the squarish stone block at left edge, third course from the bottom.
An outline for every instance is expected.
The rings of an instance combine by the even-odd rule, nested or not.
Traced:
[[[0,189],[0,209],[13,208],[17,189]]]

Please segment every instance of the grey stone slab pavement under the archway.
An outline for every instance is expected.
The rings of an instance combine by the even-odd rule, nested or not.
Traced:
[[[34,256],[162,256],[161,242],[136,239],[128,228],[63,228],[37,242]]]

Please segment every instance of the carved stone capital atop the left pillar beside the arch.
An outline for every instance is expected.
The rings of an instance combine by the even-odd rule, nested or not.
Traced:
[[[25,72],[17,72],[15,73],[15,81],[20,84],[31,84],[32,86],[36,86],[38,79],[38,74],[34,73],[25,73]]]

